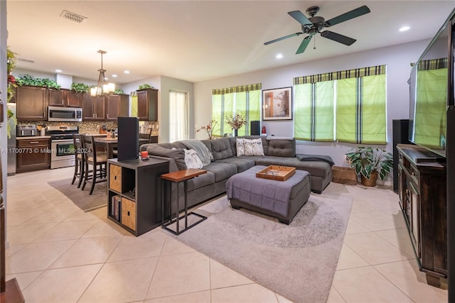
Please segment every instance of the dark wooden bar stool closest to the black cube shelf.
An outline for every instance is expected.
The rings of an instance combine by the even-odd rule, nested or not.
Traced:
[[[82,143],[85,152],[85,177],[82,190],[90,180],[92,182],[90,194],[92,194],[96,183],[107,181],[107,153],[97,151],[96,141],[92,136],[82,136]],[[89,169],[89,165],[92,165],[92,170]]]

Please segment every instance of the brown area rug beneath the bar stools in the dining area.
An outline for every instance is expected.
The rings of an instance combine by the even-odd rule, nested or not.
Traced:
[[[82,191],[80,189],[82,185],[80,188],[77,188],[77,182],[71,184],[72,180],[73,178],[50,181],[48,184],[58,189],[59,192],[68,197],[68,199],[73,201],[83,211],[92,211],[107,205],[107,182],[95,184],[93,193],[89,194],[90,187],[92,186],[91,183],[87,184]]]

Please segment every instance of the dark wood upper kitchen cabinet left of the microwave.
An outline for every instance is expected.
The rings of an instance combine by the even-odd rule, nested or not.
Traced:
[[[16,106],[18,121],[45,121],[48,116],[48,89],[45,87],[17,87]]]

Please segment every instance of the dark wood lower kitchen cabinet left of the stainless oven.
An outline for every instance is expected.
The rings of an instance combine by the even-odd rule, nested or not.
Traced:
[[[31,138],[16,141],[16,172],[50,168],[50,139]]]

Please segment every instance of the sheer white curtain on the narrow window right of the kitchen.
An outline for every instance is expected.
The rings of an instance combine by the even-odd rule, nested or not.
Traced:
[[[186,92],[169,92],[169,142],[189,139]]]

